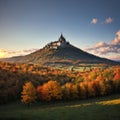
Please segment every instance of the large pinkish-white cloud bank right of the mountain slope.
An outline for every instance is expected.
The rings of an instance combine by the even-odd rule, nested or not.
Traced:
[[[110,43],[98,42],[96,45],[88,47],[85,50],[96,55],[112,56],[112,54],[114,54],[114,56],[120,56],[120,31],[118,31],[116,35]],[[118,57],[116,58],[118,59]]]

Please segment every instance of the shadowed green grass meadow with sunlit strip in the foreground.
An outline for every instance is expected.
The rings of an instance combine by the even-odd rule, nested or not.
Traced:
[[[57,103],[0,106],[0,120],[120,120],[120,95]]]

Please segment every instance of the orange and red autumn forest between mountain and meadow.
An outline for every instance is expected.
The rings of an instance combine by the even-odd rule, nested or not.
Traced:
[[[0,104],[70,101],[120,93],[120,67],[61,70],[0,62]]]

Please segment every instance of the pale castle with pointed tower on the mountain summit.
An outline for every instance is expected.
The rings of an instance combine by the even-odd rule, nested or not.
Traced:
[[[49,44],[47,44],[44,49],[58,49],[60,47],[65,47],[66,45],[68,45],[69,42],[66,41],[66,39],[63,37],[63,35],[61,34],[60,38],[58,39],[58,41],[55,42],[51,42]]]

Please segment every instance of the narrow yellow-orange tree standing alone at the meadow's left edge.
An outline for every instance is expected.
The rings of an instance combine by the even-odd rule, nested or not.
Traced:
[[[36,88],[32,82],[27,82],[23,86],[23,91],[21,92],[21,101],[25,104],[31,104],[35,102],[37,98]]]

